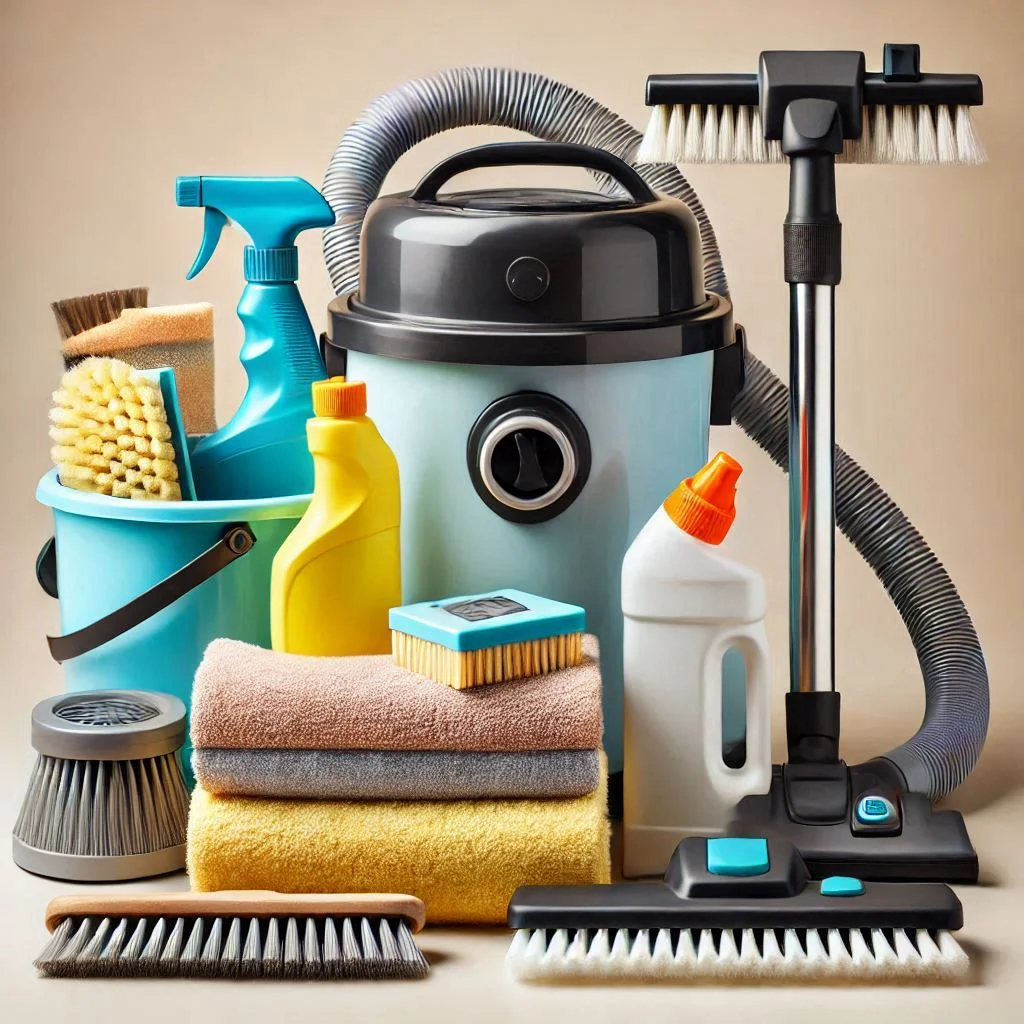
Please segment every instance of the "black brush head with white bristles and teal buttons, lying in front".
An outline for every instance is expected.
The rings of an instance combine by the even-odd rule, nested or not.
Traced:
[[[781,840],[683,840],[663,882],[523,886],[518,981],[963,984],[955,894],[938,883],[811,882]]]

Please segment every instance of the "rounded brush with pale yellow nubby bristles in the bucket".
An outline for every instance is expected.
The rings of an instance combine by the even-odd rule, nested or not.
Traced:
[[[195,498],[174,374],[92,357],[53,393],[50,455],[60,482],[114,498]]]

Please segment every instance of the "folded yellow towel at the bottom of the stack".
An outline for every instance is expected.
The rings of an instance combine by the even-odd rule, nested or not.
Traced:
[[[578,800],[376,803],[193,794],[197,892],[400,892],[431,924],[500,925],[517,886],[610,881],[607,765]]]

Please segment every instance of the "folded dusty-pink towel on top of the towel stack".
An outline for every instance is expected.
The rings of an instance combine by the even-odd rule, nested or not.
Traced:
[[[311,751],[594,751],[597,639],[583,664],[456,690],[390,654],[309,657],[214,640],[196,672],[193,746]]]

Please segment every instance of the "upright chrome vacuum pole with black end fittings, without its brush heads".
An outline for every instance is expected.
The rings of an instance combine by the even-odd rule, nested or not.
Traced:
[[[836,208],[840,109],[795,99],[785,109],[790,160],[783,227],[790,285],[790,689],[791,763],[839,759],[835,692],[835,292],[842,273]]]

